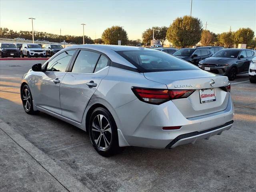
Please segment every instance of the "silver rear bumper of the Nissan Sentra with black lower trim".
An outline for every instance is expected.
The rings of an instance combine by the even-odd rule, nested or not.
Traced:
[[[122,106],[116,109],[118,114],[126,114],[125,118],[119,116],[122,122],[119,129],[130,146],[174,148],[181,144],[208,139],[230,129],[233,124],[234,108],[230,94],[225,110],[192,118],[185,118],[172,101],[158,106],[146,104],[143,107],[143,105],[143,102],[134,100],[129,103],[130,108]],[[147,106],[152,108],[146,108]],[[122,112],[123,110],[125,112]],[[164,126],[181,126],[181,128],[162,130]]]

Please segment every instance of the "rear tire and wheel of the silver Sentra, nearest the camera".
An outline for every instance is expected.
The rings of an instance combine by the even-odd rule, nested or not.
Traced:
[[[108,110],[96,108],[90,117],[88,130],[92,145],[100,155],[107,157],[121,152],[116,122]]]

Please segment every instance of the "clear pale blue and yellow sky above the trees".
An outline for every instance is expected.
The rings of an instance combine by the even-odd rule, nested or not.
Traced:
[[[0,27],[62,35],[101,38],[113,25],[123,26],[131,40],[141,39],[152,26],[170,26],[177,17],[190,15],[191,0],[0,0]],[[192,0],[192,16],[204,28],[221,33],[251,28],[256,35],[256,0]]]

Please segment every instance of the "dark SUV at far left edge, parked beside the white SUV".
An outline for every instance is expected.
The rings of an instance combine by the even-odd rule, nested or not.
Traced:
[[[20,50],[12,43],[0,43],[0,57],[20,57]]]

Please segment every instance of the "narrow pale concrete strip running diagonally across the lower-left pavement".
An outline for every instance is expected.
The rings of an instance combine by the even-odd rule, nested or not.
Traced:
[[[63,170],[52,158],[18,134],[12,127],[0,119],[0,127],[16,144],[25,150],[40,166],[52,175],[66,190],[76,192],[91,192],[80,181]]]

